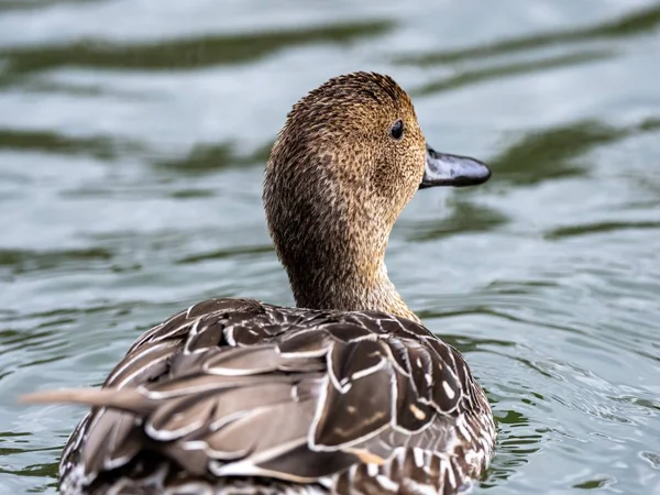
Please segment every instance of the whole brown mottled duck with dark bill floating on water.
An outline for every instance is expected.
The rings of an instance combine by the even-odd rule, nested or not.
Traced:
[[[295,307],[213,298],[147,330],[100,388],[29,403],[89,408],[64,495],[454,494],[494,453],[461,353],[413,312],[385,251],[419,189],[490,168],[427,144],[389,76],[334,77],[290,110],[267,162],[268,232]]]

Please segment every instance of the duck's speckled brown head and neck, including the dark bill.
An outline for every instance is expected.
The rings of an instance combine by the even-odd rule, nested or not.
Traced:
[[[263,193],[296,304],[417,319],[385,267],[394,222],[418,189],[490,176],[474,158],[428,146],[410,98],[388,76],[350,74],[309,92],[279,132]]]

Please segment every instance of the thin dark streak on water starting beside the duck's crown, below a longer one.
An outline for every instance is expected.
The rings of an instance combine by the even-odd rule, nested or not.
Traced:
[[[590,62],[600,62],[610,58],[614,55],[615,53],[612,51],[584,51],[576,54],[559,55],[530,62],[506,63],[493,67],[471,69],[435,82],[428,82],[424,86],[413,89],[410,94],[413,96],[421,97],[454,89],[462,89],[466,86],[476,85],[493,79],[501,80],[505,77],[542,73],[544,70],[551,70],[561,67],[571,67],[575,65],[582,66]]]

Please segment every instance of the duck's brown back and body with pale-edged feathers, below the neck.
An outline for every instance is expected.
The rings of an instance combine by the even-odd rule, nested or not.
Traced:
[[[123,474],[144,494],[284,482],[289,493],[449,494],[479,475],[495,436],[459,352],[374,311],[204,301],[142,336],[96,393],[79,397],[97,407],[65,450],[67,493],[117,488]],[[231,492],[237,479],[257,481]]]

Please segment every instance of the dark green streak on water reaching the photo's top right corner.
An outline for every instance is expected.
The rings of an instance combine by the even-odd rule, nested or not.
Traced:
[[[486,45],[442,51],[422,55],[407,55],[396,58],[400,64],[439,65],[464,62],[473,58],[488,58],[516,52],[543,48],[554,45],[570,45],[602,38],[625,38],[639,36],[658,29],[660,25],[660,3],[636,10],[610,21],[591,26],[570,30],[557,30],[542,34],[519,36],[493,42]]]

